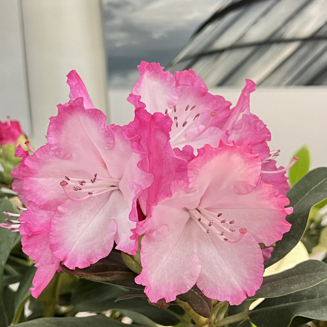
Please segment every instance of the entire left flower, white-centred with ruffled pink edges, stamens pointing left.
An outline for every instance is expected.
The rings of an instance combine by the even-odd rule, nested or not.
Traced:
[[[34,296],[59,262],[69,269],[87,267],[107,256],[114,242],[135,254],[130,236],[138,220],[136,199],[153,180],[138,168],[142,155],[132,151],[124,128],[107,126],[98,109],[85,109],[85,99],[92,106],[76,72],[68,81],[72,100],[58,105],[50,119],[48,143],[32,155],[19,147],[22,160],[13,171],[13,189],[28,208],[19,227],[23,250],[38,267]]]

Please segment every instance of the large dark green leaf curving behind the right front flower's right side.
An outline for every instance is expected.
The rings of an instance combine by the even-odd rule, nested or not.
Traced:
[[[310,171],[288,191],[287,197],[293,206],[293,213],[286,220],[292,227],[281,241],[276,242],[271,258],[265,261],[266,268],[282,259],[299,242],[306,229],[311,207],[327,197],[327,168]]]

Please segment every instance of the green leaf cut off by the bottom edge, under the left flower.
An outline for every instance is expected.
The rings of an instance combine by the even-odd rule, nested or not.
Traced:
[[[84,318],[65,317],[65,318],[39,318],[27,322],[18,323],[17,327],[136,327],[136,325],[126,325],[123,322],[107,318],[103,315],[90,316]],[[139,327],[140,325],[138,325]]]

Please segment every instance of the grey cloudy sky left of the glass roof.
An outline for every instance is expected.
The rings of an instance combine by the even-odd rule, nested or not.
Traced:
[[[110,87],[132,87],[141,60],[168,63],[219,2],[103,0]]]

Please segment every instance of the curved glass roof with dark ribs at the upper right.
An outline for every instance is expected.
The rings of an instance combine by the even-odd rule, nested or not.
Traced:
[[[327,85],[326,0],[221,0],[168,64],[209,86]]]

